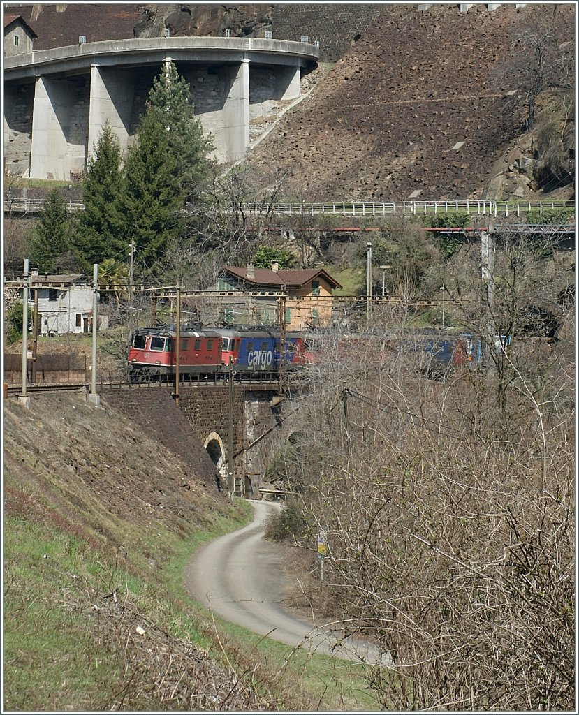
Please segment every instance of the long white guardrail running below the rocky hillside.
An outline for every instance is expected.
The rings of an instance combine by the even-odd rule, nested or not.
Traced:
[[[42,209],[42,199],[4,199],[4,212],[36,213]],[[66,209],[70,212],[83,211],[80,199],[68,199]],[[520,216],[522,213],[565,209],[574,204],[565,201],[382,201],[382,202],[331,202],[331,203],[296,203],[296,204],[242,204],[242,211],[248,215],[277,216],[386,216],[389,214],[426,215],[448,212],[467,212],[468,214],[490,216]]]

